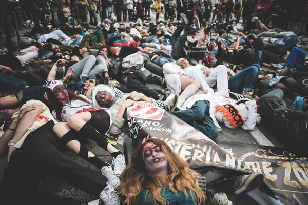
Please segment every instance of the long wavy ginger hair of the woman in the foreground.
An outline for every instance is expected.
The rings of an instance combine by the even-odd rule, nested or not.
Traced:
[[[168,159],[168,176],[166,181],[163,181],[159,175],[145,169],[142,150],[148,142],[158,145]],[[146,194],[150,192],[152,195],[151,202],[153,204],[165,205],[168,201],[161,196],[161,191],[168,187],[171,192],[184,192],[186,199],[190,198],[196,204],[201,205],[205,203],[206,197],[199,187],[198,177],[199,174],[190,169],[188,163],[172,151],[166,142],[151,138],[133,151],[131,162],[121,175],[122,188],[119,195],[122,195],[123,204],[139,204],[141,191],[143,188],[146,188]],[[190,196],[187,195],[186,191],[189,192]]]

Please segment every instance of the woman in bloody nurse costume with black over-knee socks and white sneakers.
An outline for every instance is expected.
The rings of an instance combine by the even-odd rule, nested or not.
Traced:
[[[84,95],[75,95],[63,85],[62,81],[51,80],[48,82],[47,96],[50,107],[53,109],[55,118],[62,122],[53,128],[53,131],[76,154],[93,163],[102,170],[103,175],[109,179],[112,187],[117,189],[121,182],[118,178],[125,169],[125,159],[121,151],[113,147],[106,139],[106,134],[112,124],[111,113],[108,109],[93,107],[92,100]],[[76,138],[72,135],[70,128],[80,141],[94,141],[98,146],[108,151],[112,156],[112,167],[103,162],[92,153],[85,151],[80,143],[70,143]],[[71,146],[69,144],[72,144]]]

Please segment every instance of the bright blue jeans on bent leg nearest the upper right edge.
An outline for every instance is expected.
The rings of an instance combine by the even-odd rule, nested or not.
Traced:
[[[294,47],[290,54],[287,56],[285,63],[282,63],[282,66],[286,66],[290,69],[299,66],[308,55],[305,51],[301,50],[298,47]]]

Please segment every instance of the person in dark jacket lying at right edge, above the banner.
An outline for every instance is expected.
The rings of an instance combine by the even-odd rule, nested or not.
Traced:
[[[262,123],[271,127],[275,134],[294,146],[305,146],[308,135],[308,97],[296,97],[292,108],[281,102],[283,91],[278,89],[257,100]]]

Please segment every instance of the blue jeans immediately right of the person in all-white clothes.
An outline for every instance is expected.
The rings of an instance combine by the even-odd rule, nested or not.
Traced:
[[[258,80],[260,65],[253,64],[229,79],[229,89],[232,92],[251,91]]]

